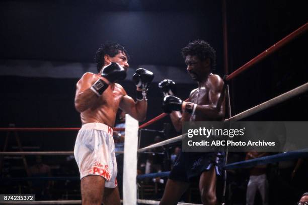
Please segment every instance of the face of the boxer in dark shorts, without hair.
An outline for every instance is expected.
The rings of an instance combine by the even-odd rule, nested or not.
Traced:
[[[187,72],[194,81],[201,81],[210,72],[210,59],[201,61],[196,55],[187,55],[185,58]]]

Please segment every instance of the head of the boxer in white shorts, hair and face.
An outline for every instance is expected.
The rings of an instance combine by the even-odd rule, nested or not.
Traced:
[[[115,42],[107,42],[96,51],[96,69],[100,72],[103,66],[108,65],[110,62],[117,62],[127,70],[129,66],[128,59],[129,55],[122,45]]]

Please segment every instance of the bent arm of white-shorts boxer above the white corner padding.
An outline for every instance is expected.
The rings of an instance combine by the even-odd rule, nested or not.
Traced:
[[[123,97],[120,101],[119,107],[136,120],[144,121],[146,117],[147,101],[137,100],[135,102],[130,96],[127,95],[123,88],[121,88],[121,90],[123,92]]]

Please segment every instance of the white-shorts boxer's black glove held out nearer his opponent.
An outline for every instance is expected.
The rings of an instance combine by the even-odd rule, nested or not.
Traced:
[[[153,78],[154,74],[152,72],[145,69],[137,69],[136,73],[133,75],[132,80],[137,88],[141,90],[147,90]]]

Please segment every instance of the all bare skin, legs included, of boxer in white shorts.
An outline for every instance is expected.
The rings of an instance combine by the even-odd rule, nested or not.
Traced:
[[[119,63],[127,71],[127,56],[119,52],[114,57],[104,56],[104,66],[110,62]],[[97,96],[90,88],[98,80],[108,83],[108,88],[101,96]],[[90,122],[104,123],[113,127],[118,108],[131,115],[138,121],[145,119],[147,102],[135,102],[129,97],[123,87],[112,83],[100,74],[86,73],[76,85],[75,108],[81,113],[82,124]],[[119,189],[105,188],[105,178],[98,175],[89,175],[81,180],[82,202],[88,204],[120,205]]]

